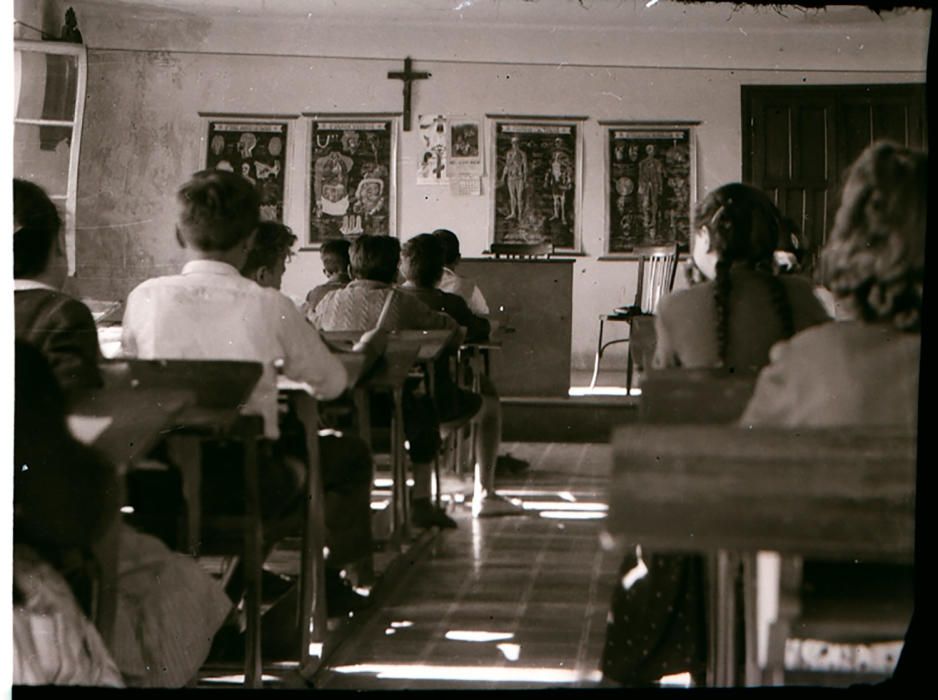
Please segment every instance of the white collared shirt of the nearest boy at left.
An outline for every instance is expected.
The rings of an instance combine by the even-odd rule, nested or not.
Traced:
[[[147,280],[130,293],[122,351],[142,359],[260,362],[263,373],[243,412],[262,415],[271,439],[279,435],[276,360],[317,398],[335,398],[348,383],[345,367],[290,299],[212,260],[191,261],[182,274]]]

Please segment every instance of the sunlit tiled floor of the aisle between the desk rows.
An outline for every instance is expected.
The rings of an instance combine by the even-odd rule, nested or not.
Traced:
[[[523,476],[499,479],[524,516],[441,533],[330,654],[326,689],[591,686],[618,561],[599,544],[606,445],[509,444]],[[458,485],[458,484],[457,484]],[[588,519],[584,519],[588,518]]]

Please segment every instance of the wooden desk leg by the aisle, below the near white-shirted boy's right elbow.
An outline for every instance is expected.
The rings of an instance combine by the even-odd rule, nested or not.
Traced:
[[[306,394],[294,397],[297,415],[306,432],[308,465],[306,472],[306,513],[303,527],[303,549],[300,564],[299,629],[300,674],[312,678],[322,660],[326,640],[328,614],[326,608],[326,577],[323,534],[325,499],[322,468],[319,459],[319,414],[316,400]]]

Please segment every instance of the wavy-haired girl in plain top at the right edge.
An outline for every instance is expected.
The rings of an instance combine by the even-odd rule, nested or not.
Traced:
[[[851,166],[821,275],[849,320],[772,348],[740,424],[918,429],[928,157],[891,142]],[[805,561],[803,590],[911,602],[909,566]]]

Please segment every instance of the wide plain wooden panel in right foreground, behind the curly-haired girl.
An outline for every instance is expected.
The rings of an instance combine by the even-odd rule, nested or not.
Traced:
[[[648,551],[914,558],[907,431],[643,424],[612,447],[607,532]]]

